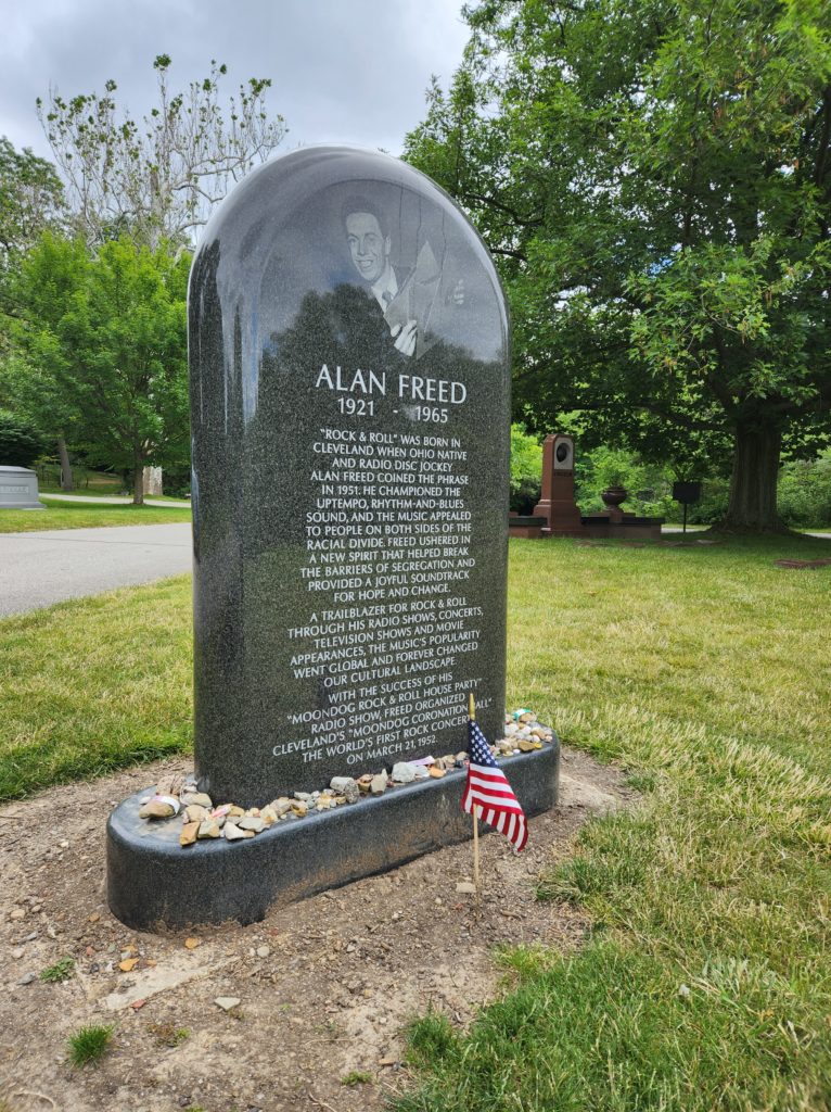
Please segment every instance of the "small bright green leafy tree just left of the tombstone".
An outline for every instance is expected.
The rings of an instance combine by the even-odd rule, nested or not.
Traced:
[[[187,255],[46,234],[18,287],[18,391],[41,428],[133,473],[188,454]]]

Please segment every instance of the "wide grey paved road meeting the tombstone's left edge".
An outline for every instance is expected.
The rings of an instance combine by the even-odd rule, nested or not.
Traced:
[[[0,616],[191,569],[190,525],[0,534]]]

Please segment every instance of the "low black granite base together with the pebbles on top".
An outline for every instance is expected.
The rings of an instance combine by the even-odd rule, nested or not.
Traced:
[[[550,744],[535,736],[532,731],[543,727],[523,715],[530,712],[511,716],[510,732],[494,752],[502,754],[511,787],[532,818],[557,803],[560,745],[553,733]],[[287,793],[266,805],[247,800],[258,804],[248,810],[230,800],[217,806],[216,798],[207,807],[193,773],[162,778],[156,793],[136,792],[108,817],[110,910],[133,930],[256,923],[278,903],[296,903],[467,842],[465,762],[463,753],[402,761],[360,783],[327,772],[329,787]],[[347,803],[349,797],[356,802]]]

